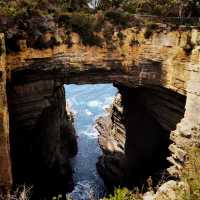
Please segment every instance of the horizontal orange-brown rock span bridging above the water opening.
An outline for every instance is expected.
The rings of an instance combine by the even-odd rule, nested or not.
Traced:
[[[41,79],[79,84],[116,81],[130,87],[162,85],[186,95],[189,73],[185,68],[198,46],[198,29],[157,27],[147,37],[148,32],[137,27],[115,32],[102,47],[84,46],[79,36],[72,34],[72,46],[67,47],[64,30],[59,29],[55,38],[60,45],[52,48],[45,46],[51,34],[43,35],[43,49],[28,48],[28,41],[17,40],[23,45],[19,52],[7,55],[7,66],[16,83]]]

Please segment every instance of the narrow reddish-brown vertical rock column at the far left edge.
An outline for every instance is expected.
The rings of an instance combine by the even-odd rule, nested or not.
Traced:
[[[7,193],[12,184],[10,142],[9,142],[9,115],[6,94],[6,67],[5,67],[4,35],[0,34],[0,192]]]

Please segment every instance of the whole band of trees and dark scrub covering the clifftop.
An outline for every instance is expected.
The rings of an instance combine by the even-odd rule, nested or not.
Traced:
[[[41,42],[44,33],[54,33],[57,28],[65,29],[65,41],[70,47],[71,32],[78,33],[84,45],[102,46],[102,37],[112,43],[114,31],[128,27],[155,23],[199,24],[198,18],[190,17],[200,16],[200,0],[99,0],[93,8],[89,3],[90,0],[0,0],[0,32],[6,33],[7,51],[18,51],[19,44],[15,42],[27,38],[30,40],[27,46],[32,48],[58,45],[60,41],[54,37],[48,44]],[[149,16],[152,14],[160,17]],[[150,35],[146,33],[147,37]]]

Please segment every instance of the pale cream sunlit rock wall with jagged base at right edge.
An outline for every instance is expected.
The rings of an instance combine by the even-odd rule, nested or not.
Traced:
[[[190,72],[190,79],[187,82],[187,102],[184,118],[172,132],[170,146],[172,156],[169,161],[173,166],[169,172],[175,176],[180,175],[180,169],[187,160],[187,150],[192,146],[199,148],[200,137],[200,51],[199,47],[193,50],[191,62],[186,70]]]

